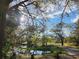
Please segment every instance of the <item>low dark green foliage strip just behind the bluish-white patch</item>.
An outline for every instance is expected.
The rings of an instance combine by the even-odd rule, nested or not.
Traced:
[[[65,50],[63,48],[54,46],[54,45],[48,45],[48,46],[37,46],[34,48],[29,48],[30,50],[38,50],[38,51],[51,51],[51,53],[65,53]],[[27,50],[29,50],[27,49]]]

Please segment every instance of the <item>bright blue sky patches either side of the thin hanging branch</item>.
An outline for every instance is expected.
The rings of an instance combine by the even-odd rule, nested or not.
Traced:
[[[78,16],[78,12],[73,11],[73,12],[69,13],[68,17],[64,16],[63,22],[65,22],[67,24],[73,23],[73,21],[76,19],[76,16]],[[47,23],[48,23],[48,25],[51,25],[51,24],[60,22],[60,20],[61,20],[60,17],[49,18]]]

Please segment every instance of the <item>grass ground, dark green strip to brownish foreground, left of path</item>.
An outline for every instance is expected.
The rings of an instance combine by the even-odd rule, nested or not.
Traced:
[[[60,43],[58,43],[60,44]],[[29,48],[30,50],[41,50],[41,51],[51,51],[50,54],[44,54],[44,55],[35,55],[35,59],[55,59],[54,56],[57,55],[57,53],[59,53],[59,55],[63,58],[71,58],[71,56],[68,56],[66,51],[61,48],[58,47],[58,44],[54,44],[54,45],[47,45],[47,46],[37,46],[35,48]],[[65,46],[73,46],[72,43],[65,43]],[[79,48],[79,47],[77,47]],[[17,59],[30,59],[30,55],[20,55],[19,58]]]

